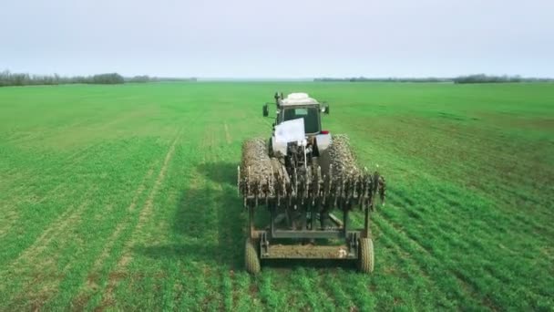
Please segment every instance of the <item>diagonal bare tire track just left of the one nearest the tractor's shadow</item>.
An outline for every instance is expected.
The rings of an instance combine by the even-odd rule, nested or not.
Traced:
[[[108,259],[109,255],[113,251],[115,245],[118,243],[118,239],[120,236],[124,233],[125,230],[128,229],[129,225],[129,219],[133,216],[133,211],[137,207],[137,203],[139,202],[140,196],[146,191],[146,184],[149,181],[150,177],[152,176],[152,173],[154,173],[154,167],[156,166],[156,163],[158,161],[154,161],[150,167],[148,172],[144,175],[142,180],[139,182],[139,187],[133,192],[133,198],[131,199],[131,203],[129,203],[126,211],[127,214],[123,218],[123,220],[119,221],[118,226],[114,230],[114,232],[109,236],[108,243],[104,246],[104,249],[100,253],[100,255],[97,257],[97,260],[92,265],[92,268],[90,269],[90,272],[87,275],[87,280],[84,282],[84,285],[81,286],[80,291],[77,293],[77,296],[75,296],[75,299],[73,300],[74,305],[76,307],[79,307],[78,309],[82,309],[86,306],[88,299],[90,296],[92,296],[92,293],[97,290],[99,287],[97,284],[99,283],[99,276],[100,271],[102,269],[102,266]]]

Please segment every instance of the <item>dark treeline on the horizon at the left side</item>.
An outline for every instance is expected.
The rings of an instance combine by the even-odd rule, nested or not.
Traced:
[[[159,78],[147,75],[126,78],[118,73],[98,74],[92,76],[62,77],[54,75],[29,75],[26,73],[12,73],[9,70],[0,72],[0,87],[11,86],[39,86],[65,84],[93,84],[117,85],[126,82],[159,82],[159,81],[196,81],[196,78]]]

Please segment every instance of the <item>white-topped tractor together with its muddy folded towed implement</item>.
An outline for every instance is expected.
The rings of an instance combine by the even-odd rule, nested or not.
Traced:
[[[328,105],[306,93],[275,93],[274,99],[271,138],[245,140],[237,169],[249,216],[246,270],[257,274],[267,259],[341,259],[373,272],[370,213],[377,197],[384,203],[385,178],[358,166],[347,136],[323,130]],[[269,104],[262,114],[269,115]],[[269,220],[256,227],[261,206]],[[352,228],[355,207],[364,213],[363,228]]]

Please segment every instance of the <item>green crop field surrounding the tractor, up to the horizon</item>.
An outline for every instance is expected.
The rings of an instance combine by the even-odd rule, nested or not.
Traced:
[[[373,275],[243,271],[241,142],[275,90],[385,175]],[[553,310],[553,224],[552,84],[0,88],[0,310]]]

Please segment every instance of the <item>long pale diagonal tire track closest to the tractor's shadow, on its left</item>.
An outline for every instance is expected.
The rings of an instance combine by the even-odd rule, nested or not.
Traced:
[[[99,306],[99,308],[102,309],[102,310],[105,307],[110,306],[114,301],[113,292],[114,292],[116,286],[118,286],[118,281],[120,279],[120,274],[122,272],[124,272],[126,266],[132,260],[132,256],[130,255],[131,254],[131,247],[134,243],[132,237],[135,234],[140,232],[140,230],[144,227],[145,223],[148,221],[149,216],[152,214],[152,209],[154,208],[154,198],[158,194],[159,187],[161,186],[162,182],[164,181],[164,179],[166,177],[166,172],[168,171],[168,168],[169,168],[169,161],[171,161],[171,159],[173,157],[173,153],[175,152],[175,146],[177,145],[177,142],[180,140],[181,133],[182,133],[182,129],[180,129],[178,131],[177,136],[175,137],[175,139],[173,140],[173,142],[169,146],[169,150],[168,150],[168,152],[166,154],[166,157],[163,161],[163,164],[162,164],[161,169],[159,171],[156,182],[154,182],[154,186],[152,187],[152,189],[149,192],[149,197],[147,198],[146,203],[144,204],[144,206],[142,207],[142,209],[139,213],[139,221],[138,221],[137,225],[135,226],[135,228],[132,231],[131,239],[128,241],[128,244],[125,244],[124,247],[123,247],[122,255],[119,258],[118,264],[116,265],[116,267],[113,270],[114,274],[109,276],[108,286],[107,286],[107,289],[106,289],[106,291],[104,292],[104,294],[102,296],[102,303]]]

